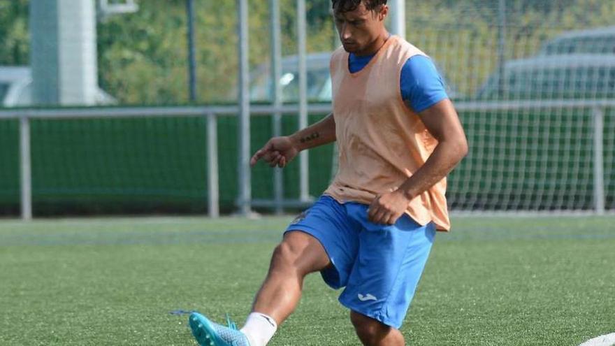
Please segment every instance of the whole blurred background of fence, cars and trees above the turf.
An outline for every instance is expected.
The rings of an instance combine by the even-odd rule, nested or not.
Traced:
[[[464,213],[615,210],[615,2],[389,1],[447,81]],[[334,145],[247,168],[330,110],[329,0],[0,0],[0,215],[291,212]]]

